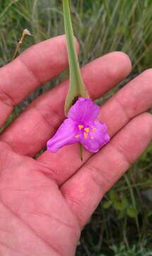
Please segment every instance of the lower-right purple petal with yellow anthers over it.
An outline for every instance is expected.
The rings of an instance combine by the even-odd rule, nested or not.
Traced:
[[[81,136],[80,142],[90,152],[98,152],[102,146],[110,141],[107,134],[107,126],[98,120],[95,120],[93,125],[89,127],[88,134]]]

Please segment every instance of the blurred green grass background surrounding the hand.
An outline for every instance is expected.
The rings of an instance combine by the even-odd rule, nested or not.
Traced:
[[[81,65],[113,50],[127,53],[133,64],[129,78],[98,103],[103,104],[126,82],[152,67],[151,0],[72,0],[71,11]],[[25,37],[21,51],[64,33],[62,1],[0,0],[0,66],[11,61],[24,28],[33,36]],[[67,76],[68,70],[33,92],[16,107],[6,125],[35,97]],[[152,144],[106,194],[83,229],[76,256],[152,255],[151,171]]]

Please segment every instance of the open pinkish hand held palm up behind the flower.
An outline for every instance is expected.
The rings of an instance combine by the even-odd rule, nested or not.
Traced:
[[[78,43],[76,43],[78,48]],[[0,124],[13,107],[40,84],[68,67],[64,36],[25,50],[0,70]],[[92,99],[131,71],[120,52],[82,68]],[[100,109],[110,143],[98,154],[78,145],[56,154],[37,154],[64,119],[68,81],[36,100],[0,136],[0,255],[72,256],[81,229],[104,194],[124,174],[152,138],[152,70],[131,80]]]

